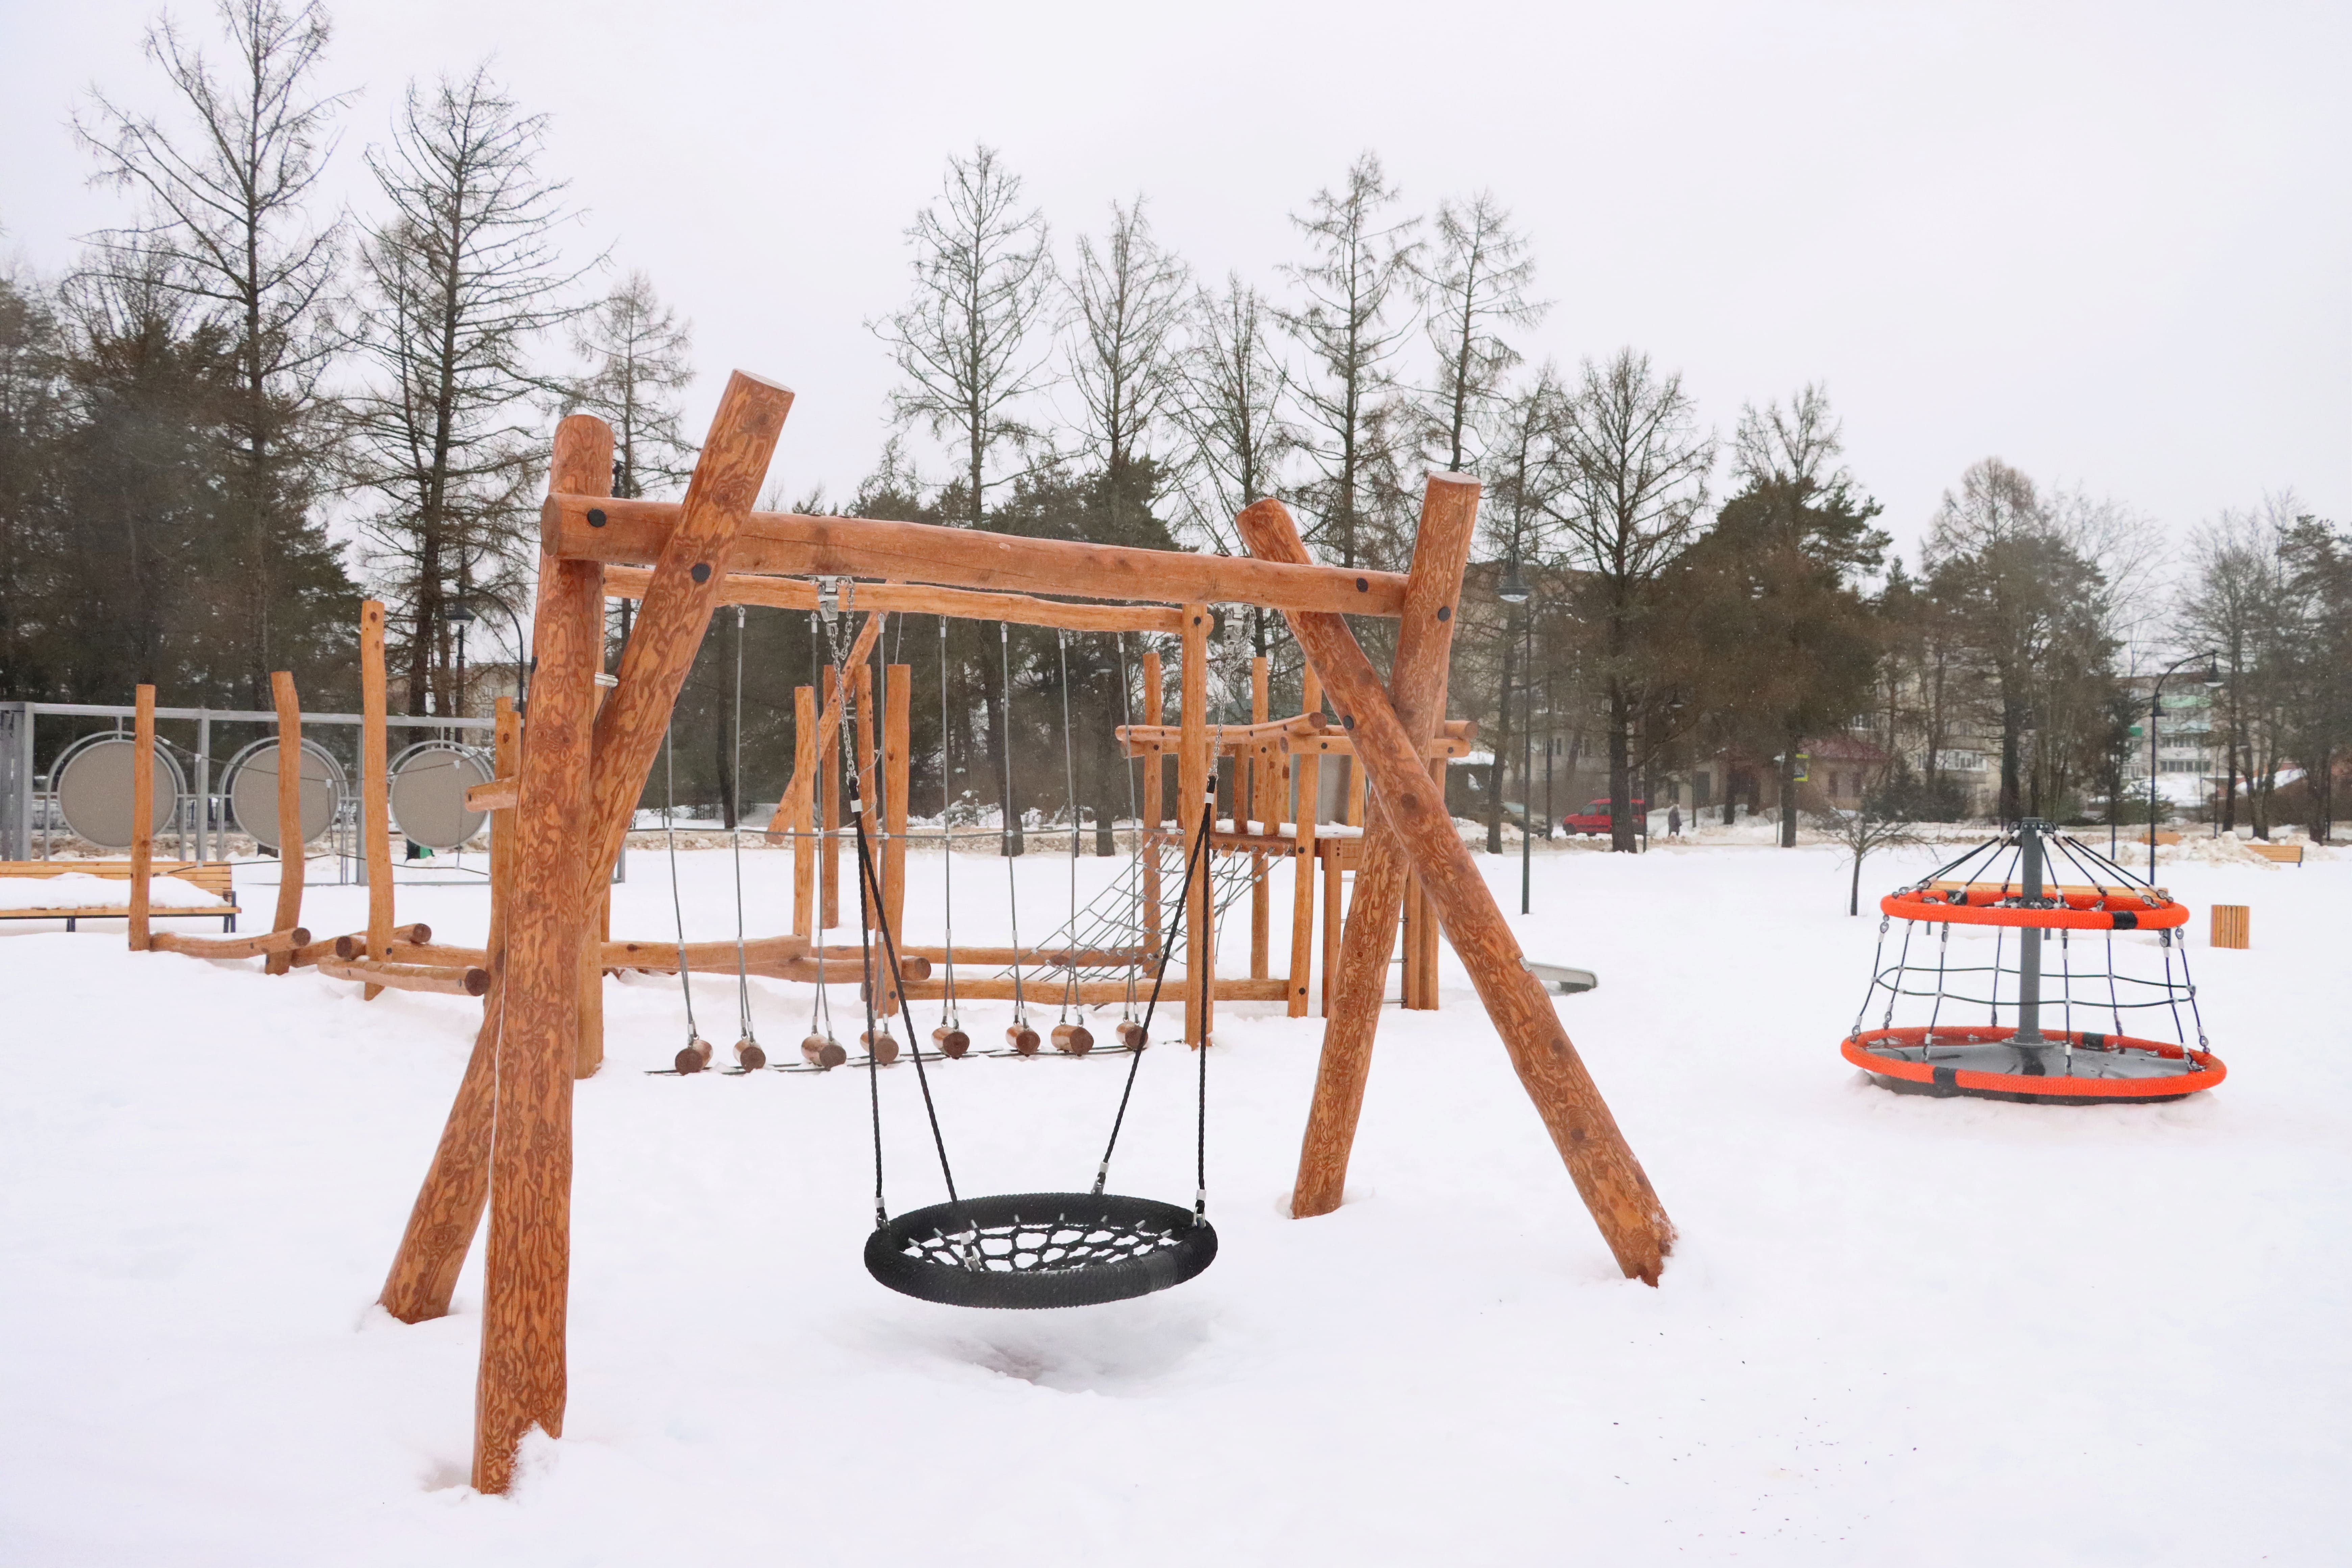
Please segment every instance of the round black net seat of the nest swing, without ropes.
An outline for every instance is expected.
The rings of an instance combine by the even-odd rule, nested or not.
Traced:
[[[1181,1286],[1216,1227],[1115,1192],[1021,1192],[913,1208],[866,1239],[866,1272],[946,1307],[1096,1307]]]

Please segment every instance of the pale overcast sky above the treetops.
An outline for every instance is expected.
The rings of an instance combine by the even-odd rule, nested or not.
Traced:
[[[198,5],[176,12],[209,28]],[[66,118],[153,99],[148,0],[0,0],[0,240],[122,214]],[[1740,402],[1828,386],[1917,541],[1997,454],[2171,529],[2296,487],[2352,522],[2352,7],[616,5],[343,0],[334,190],[412,75],[494,56],[546,169],[727,367],[800,393],[774,477],[856,484],[950,150],[1004,150],[1056,249],[1143,193],[1202,275],[1279,287],[1291,212],[1376,148],[1409,207],[1491,188],[1573,364],[1621,343]]]

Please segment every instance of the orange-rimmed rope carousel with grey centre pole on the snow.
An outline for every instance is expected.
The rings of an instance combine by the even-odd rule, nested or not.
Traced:
[[[2227,1077],[2197,1011],[2187,905],[2082,839],[2018,823],[1879,912],[1870,990],[1839,1041],[1879,1088],[2112,1105],[2183,1100]],[[2147,1023],[2133,1032],[2126,1018]],[[2173,1039],[2150,1037],[2164,1023]]]

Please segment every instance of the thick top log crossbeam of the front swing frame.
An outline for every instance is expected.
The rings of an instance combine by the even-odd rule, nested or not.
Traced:
[[[677,524],[675,501],[560,494],[548,496],[539,512],[541,548],[548,555],[607,567],[652,564]],[[1131,550],[870,517],[753,512],[731,564],[736,571],[767,576],[882,578],[1129,604],[1263,604],[1348,616],[1397,616],[1404,609],[1404,578],[1392,571]]]

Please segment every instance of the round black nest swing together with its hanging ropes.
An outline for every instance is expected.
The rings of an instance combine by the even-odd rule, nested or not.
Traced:
[[[821,607],[833,609],[835,588],[821,583]],[[823,614],[821,609],[821,614]],[[833,614],[823,614],[828,632]],[[835,635],[835,642],[840,637]],[[847,658],[837,649],[837,661]],[[861,752],[851,745],[849,703],[842,705],[842,755]],[[868,835],[858,820],[858,776],[849,771],[849,820],[856,825],[861,945],[866,947],[866,1027],[875,1030],[877,971],[870,936],[882,936],[882,973],[898,973],[898,940],[882,910],[882,882],[875,872]],[[1185,860],[1185,884],[1197,875],[1209,832],[1216,825],[1216,785],[1202,809],[1200,832]],[[1073,827],[1075,835],[1075,827]],[[1160,985],[1167,978],[1169,954],[1176,950],[1176,929],[1169,929],[1160,947],[1160,971],[1152,978],[1150,1004],[1143,1027],[1150,1027],[1152,1009],[1160,1004]],[[1197,1276],[1216,1262],[1216,1227],[1209,1225],[1209,1048],[1200,1046],[1200,1105],[1195,1147],[1195,1194],[1192,1208],[1162,1204],[1157,1199],[1122,1197],[1103,1192],[1110,1175],[1110,1154],[1117,1150],[1120,1128],[1127,1124],[1127,1105],[1136,1091],[1136,1067],[1143,1065],[1143,1048],[1136,1046],[1127,1065],[1127,1088],[1120,1093],[1120,1110],[1110,1121],[1110,1143],[1096,1166],[1091,1192],[1016,1192],[997,1197],[962,1197],[955,1190],[955,1173],[948,1166],[948,1143],[938,1128],[938,1107],[931,1103],[931,1079],[924,1072],[920,1039],[910,1039],[915,1081],[922,1086],[922,1105],[931,1121],[931,1145],[938,1150],[938,1171],[948,1185],[948,1201],[929,1208],[913,1208],[891,1218],[882,1201],[882,1100],[880,1077],[868,1058],[868,1095],[875,1128],[875,1229],[866,1239],[866,1272],[880,1284],[917,1300],[946,1307],[1098,1307],[1103,1302],[1129,1300],[1167,1291]]]

